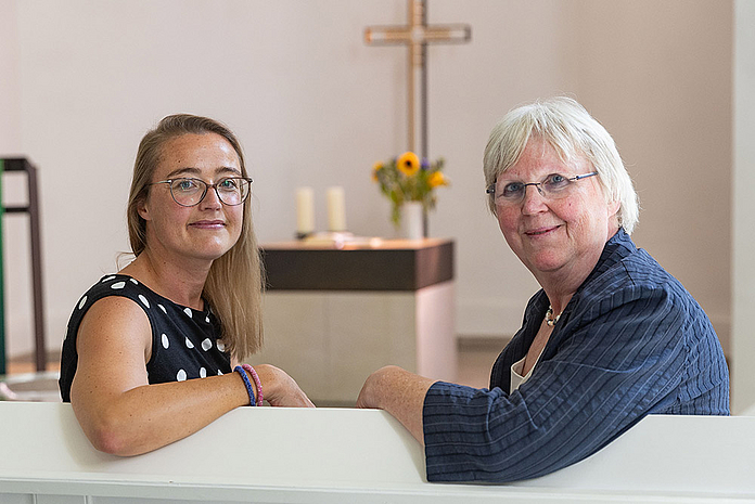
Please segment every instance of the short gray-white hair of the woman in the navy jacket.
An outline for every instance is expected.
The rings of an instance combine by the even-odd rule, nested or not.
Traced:
[[[603,126],[575,100],[556,96],[510,111],[490,132],[483,171],[485,186],[519,160],[530,137],[538,137],[555,150],[564,163],[584,156],[598,172],[610,202],[619,202],[618,225],[631,234],[639,219],[639,201],[616,144]],[[496,212],[494,196],[488,199]]]

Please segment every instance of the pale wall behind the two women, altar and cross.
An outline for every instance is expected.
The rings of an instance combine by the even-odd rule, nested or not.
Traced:
[[[170,113],[219,118],[242,139],[261,242],[292,236],[297,185],[316,189],[320,228],[324,190],[341,184],[354,232],[393,233],[370,168],[405,148],[406,51],[367,47],[362,30],[405,23],[405,0],[0,0],[7,15],[17,40],[5,57],[17,67],[0,72],[16,82],[16,143],[41,172],[51,346],[75,300],[127,249],[137,143]],[[471,43],[428,51],[431,156],[446,157],[452,180],[431,233],[457,240],[459,332],[511,334],[537,288],[485,208],[487,135],[512,106],[571,93],[630,164],[638,244],[726,343],[731,2],[430,0],[430,21],[473,28]],[[25,281],[9,279],[11,353],[30,349]]]

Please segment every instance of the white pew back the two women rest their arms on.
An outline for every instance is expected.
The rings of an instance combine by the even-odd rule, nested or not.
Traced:
[[[94,450],[69,404],[0,402],[0,426],[2,503],[755,501],[755,417],[650,416],[572,467],[497,486],[426,482],[422,448],[381,411],[244,408],[135,457]]]

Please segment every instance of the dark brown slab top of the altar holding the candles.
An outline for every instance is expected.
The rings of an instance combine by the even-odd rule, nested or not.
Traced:
[[[453,279],[445,238],[296,241],[261,246],[269,290],[419,290]]]

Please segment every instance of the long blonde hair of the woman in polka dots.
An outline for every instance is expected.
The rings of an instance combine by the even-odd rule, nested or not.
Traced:
[[[241,144],[225,125],[207,117],[177,114],[165,117],[139,143],[126,217],[131,250],[139,256],[148,247],[146,222],[139,216],[139,204],[148,196],[163,145],[182,134],[216,133],[226,139],[239,156],[241,172],[248,177]],[[202,296],[220,321],[220,337],[240,361],[259,350],[263,344],[263,266],[247,198],[239,241],[213,262]]]

